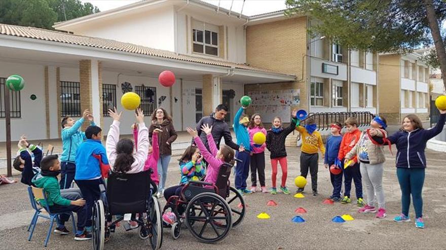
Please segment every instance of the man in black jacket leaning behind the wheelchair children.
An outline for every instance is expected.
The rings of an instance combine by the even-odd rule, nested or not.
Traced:
[[[209,150],[209,144],[207,142],[206,134],[202,133],[201,126],[208,124],[212,126],[212,137],[214,138],[217,148],[220,148],[221,137],[225,138],[225,144],[232,147],[234,150],[239,150],[239,145],[232,141],[231,131],[229,130],[228,123],[225,122],[225,117],[228,114],[228,107],[220,104],[215,109],[215,112],[210,116],[205,116],[197,123],[197,132],[201,141],[203,141],[206,148]]]

